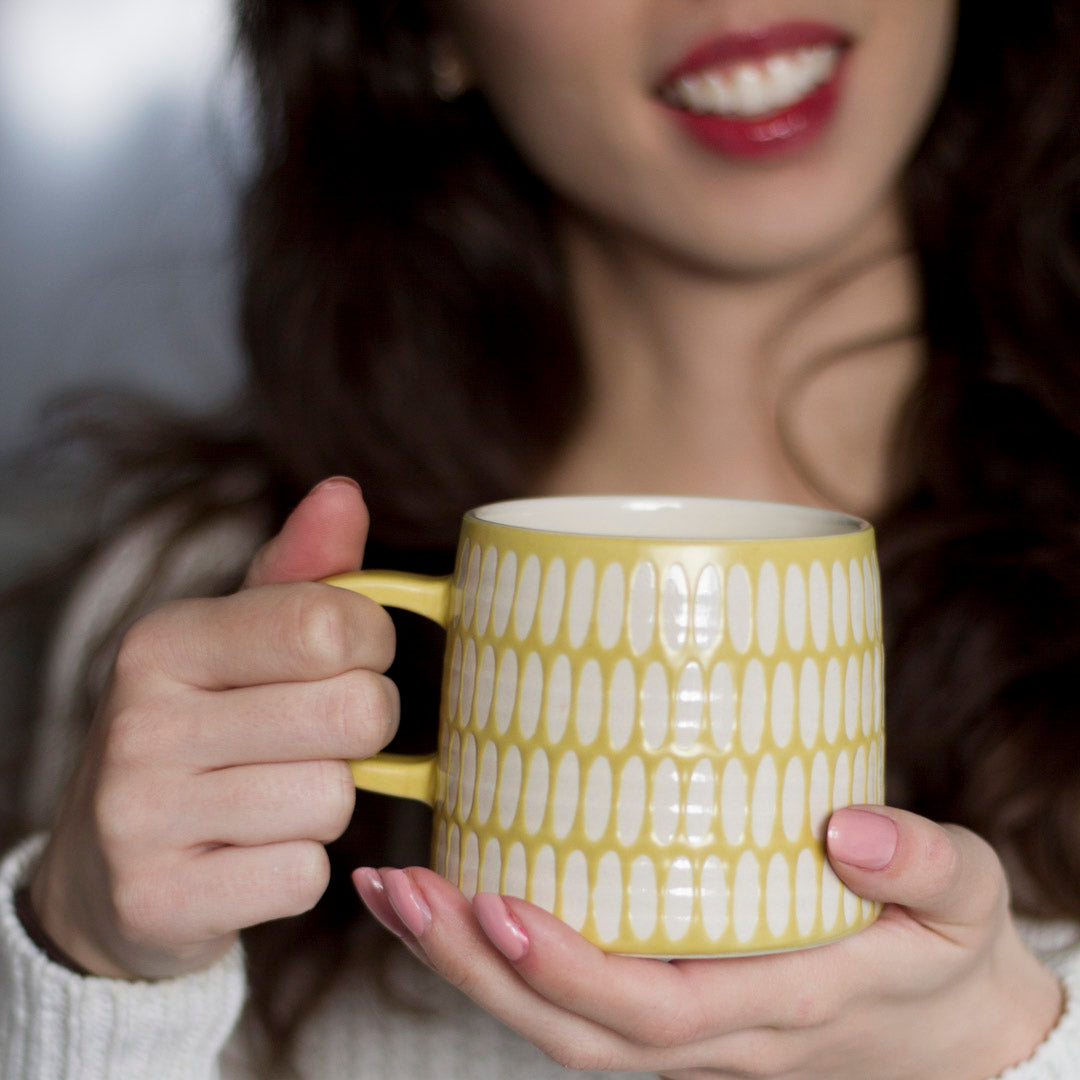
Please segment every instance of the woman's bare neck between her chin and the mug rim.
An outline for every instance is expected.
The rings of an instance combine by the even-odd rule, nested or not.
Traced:
[[[870,346],[917,321],[894,207],[772,274],[704,272],[577,219],[563,238],[589,397],[545,490],[863,513],[883,498],[888,432],[919,359],[912,335]]]

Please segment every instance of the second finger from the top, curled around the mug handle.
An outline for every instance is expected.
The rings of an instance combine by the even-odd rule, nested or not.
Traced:
[[[191,718],[174,727],[174,745],[159,743],[152,752],[173,754],[187,768],[207,771],[370,757],[397,731],[401,702],[386,675],[359,669],[316,683],[194,691],[187,707]],[[118,753],[121,760],[132,756],[123,745]]]

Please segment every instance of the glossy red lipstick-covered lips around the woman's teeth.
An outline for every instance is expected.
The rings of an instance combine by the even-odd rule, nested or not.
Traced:
[[[688,135],[715,153],[742,160],[794,153],[815,141],[835,116],[850,43],[836,27],[807,22],[724,35],[692,49],[664,76],[661,100]],[[729,99],[723,108],[715,100],[703,106],[700,92],[693,96],[686,86],[706,73],[723,81],[730,79],[739,65],[764,65],[772,57],[785,55],[792,57],[793,63],[802,64],[805,69],[802,51],[815,46],[824,48],[826,53],[836,51],[834,58],[827,62],[829,68],[824,81],[819,84],[814,80],[805,92],[799,89],[795,99],[783,100],[760,112],[750,109],[745,100],[740,102],[733,91],[727,92]],[[733,93],[732,104],[730,95]],[[752,114],[746,114],[747,111]]]

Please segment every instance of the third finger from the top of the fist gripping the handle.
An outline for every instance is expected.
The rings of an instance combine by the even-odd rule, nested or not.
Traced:
[[[185,848],[329,843],[352,819],[356,788],[345,761],[284,761],[206,773],[185,797]]]

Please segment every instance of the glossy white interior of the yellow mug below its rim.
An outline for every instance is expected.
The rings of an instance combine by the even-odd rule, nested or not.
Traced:
[[[512,528],[653,540],[771,540],[832,537],[869,525],[818,507],[697,496],[558,496],[478,507],[470,516]]]

